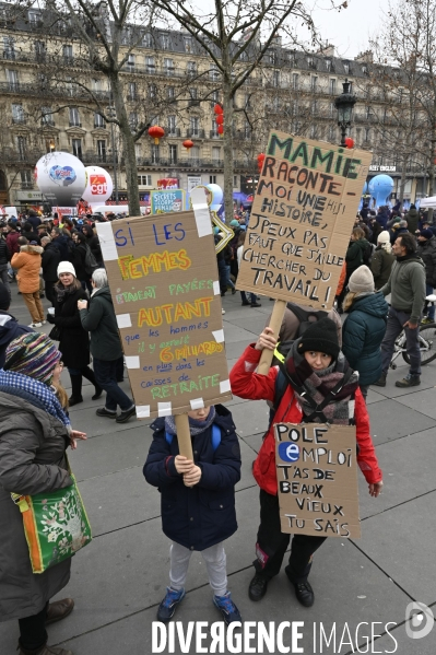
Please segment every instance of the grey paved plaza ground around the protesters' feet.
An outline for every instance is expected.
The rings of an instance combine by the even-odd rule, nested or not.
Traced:
[[[12,293],[11,313],[28,324],[15,284]],[[223,318],[232,366],[261,331],[273,303],[262,299],[260,308],[243,307],[239,293],[227,295]],[[46,328],[49,326],[43,328],[48,332]],[[405,630],[409,624],[416,631],[426,622],[423,619],[421,627],[411,627],[406,621],[412,601],[436,611],[436,361],[423,369],[420,387],[397,388],[394,382],[404,372],[401,361],[399,369],[389,373],[386,388],[369,391],[384,493],[372,499],[360,475],[362,539],[329,539],[315,555],[310,582],[316,601],[311,609],[298,605],[283,570],[260,603],[248,598],[259,517],[251,463],[267,426],[268,408],[264,402],[238,398],[229,403],[240,438],[243,475],[236,488],[239,529],[226,541],[228,586],[245,621],[275,621],[276,625],[303,621],[298,645],[304,653],[436,653],[436,627],[423,639],[411,639]],[[63,376],[69,387],[69,376]],[[129,389],[127,382],[123,388]],[[142,475],[152,431],[150,421],[116,425],[98,418],[95,410],[102,401],[93,402],[92,394],[92,387],[85,386],[84,402],[71,410],[73,426],[85,431],[89,438],[79,444],[70,461],[94,540],[73,559],[71,582],[60,597],[73,597],[75,609],[66,621],[49,628],[49,643],[61,644],[75,655],[148,654],[152,653],[152,622],[168,584],[169,561],[158,492]],[[176,619],[187,627],[188,621],[211,623],[220,618],[204,564],[195,553],[187,596]],[[333,624],[335,639],[321,646],[319,634],[323,629],[330,635]],[[372,632],[380,636],[368,646]],[[0,623],[0,654],[12,655],[16,641],[16,622]],[[291,645],[291,630],[284,632],[284,642]],[[181,652],[177,641],[173,652]],[[192,646],[185,652],[196,650]]]

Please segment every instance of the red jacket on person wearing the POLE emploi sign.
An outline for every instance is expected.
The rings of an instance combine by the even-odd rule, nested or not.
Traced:
[[[240,398],[271,400],[273,402],[279,369],[276,366],[270,369],[268,375],[255,373],[260,355],[261,351],[255,350],[254,344],[245,349],[231,372],[232,391]],[[275,412],[274,423],[301,423],[302,419],[302,409],[294,390],[288,386]],[[357,464],[368,483],[379,482],[382,475],[378,467],[377,456],[369,434],[369,417],[361,389],[357,389],[355,394],[354,419],[360,448]],[[272,425],[263,440],[252,472],[257,483],[263,491],[276,495],[275,441]]]

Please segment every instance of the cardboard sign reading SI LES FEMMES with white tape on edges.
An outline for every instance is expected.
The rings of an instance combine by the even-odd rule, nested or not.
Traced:
[[[139,419],[232,398],[203,204],[97,225]]]

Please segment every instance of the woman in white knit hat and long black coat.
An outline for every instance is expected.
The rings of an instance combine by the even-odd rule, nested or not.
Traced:
[[[106,391],[105,407],[97,409],[96,413],[98,417],[116,419],[117,423],[126,423],[134,414],[135,408],[133,401],[117,383],[117,363],[122,355],[122,349],[104,268],[97,268],[93,272],[91,283],[93,292],[90,307],[87,301],[79,301],[78,307],[83,328],[91,332],[95,379]],[[118,405],[121,412],[117,416]]]

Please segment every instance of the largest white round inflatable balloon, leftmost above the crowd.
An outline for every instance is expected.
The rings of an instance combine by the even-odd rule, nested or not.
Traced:
[[[75,207],[86,186],[85,167],[68,152],[48,152],[36,162],[35,182],[51,204]]]

